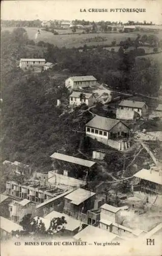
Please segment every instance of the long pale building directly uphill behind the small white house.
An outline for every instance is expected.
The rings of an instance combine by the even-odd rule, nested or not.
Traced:
[[[95,86],[97,79],[94,76],[70,76],[65,80],[65,87],[78,90]]]

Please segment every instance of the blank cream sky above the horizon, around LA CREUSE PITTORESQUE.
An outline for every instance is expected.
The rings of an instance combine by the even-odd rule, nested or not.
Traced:
[[[108,9],[108,12],[89,12],[89,9]],[[146,12],[110,12],[114,8],[146,9]],[[86,9],[86,12],[80,12]],[[53,20],[85,19],[162,24],[162,0],[21,0],[1,1],[1,19]]]

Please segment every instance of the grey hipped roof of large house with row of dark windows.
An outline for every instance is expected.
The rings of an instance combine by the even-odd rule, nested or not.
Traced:
[[[103,116],[95,116],[86,123],[86,126],[94,127],[100,130],[110,131],[120,120],[111,119]]]

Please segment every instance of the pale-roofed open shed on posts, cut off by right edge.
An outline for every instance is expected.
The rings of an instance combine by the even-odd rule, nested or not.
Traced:
[[[162,195],[161,169],[141,169],[133,175],[138,183],[139,191],[147,194]]]

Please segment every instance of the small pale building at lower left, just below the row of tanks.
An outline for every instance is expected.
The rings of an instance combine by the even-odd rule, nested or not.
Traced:
[[[35,203],[28,199],[22,201],[13,201],[9,204],[10,219],[14,222],[20,222],[24,215],[34,214]]]

